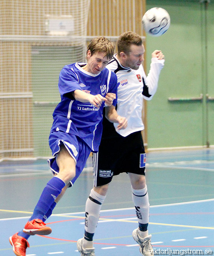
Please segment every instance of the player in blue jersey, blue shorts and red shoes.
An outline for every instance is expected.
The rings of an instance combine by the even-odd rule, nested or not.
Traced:
[[[47,235],[51,228],[44,221],[51,215],[56,203],[82,172],[91,151],[96,152],[102,135],[102,113],[118,123],[118,129],[127,126],[125,117],[116,113],[117,78],[105,68],[114,54],[114,45],[105,37],[92,39],[87,49],[87,64],[75,63],[62,68],[59,76],[61,102],[53,112],[49,145],[53,157],[48,160],[54,177],[47,182],[33,215],[24,229],[9,238],[14,253],[26,255],[30,235]],[[93,254],[91,254],[93,255]]]

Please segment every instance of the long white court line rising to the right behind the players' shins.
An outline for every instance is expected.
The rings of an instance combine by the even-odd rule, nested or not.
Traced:
[[[165,206],[176,206],[176,205],[183,205],[183,204],[203,203],[203,202],[211,202],[211,201],[214,201],[214,198],[212,198],[212,199],[203,199],[203,200],[198,200],[198,201],[191,201],[191,202],[153,205],[153,206],[150,206],[150,208],[165,207]],[[133,210],[133,209],[135,209],[135,208],[131,207],[131,208],[120,208],[120,209],[112,209],[112,210],[101,210],[100,212],[125,211],[125,210]],[[71,212],[71,213],[63,213],[63,214],[62,213],[61,214],[52,214],[51,216],[77,215],[77,214],[85,214],[85,212]],[[16,218],[5,218],[5,219],[0,219],[0,221],[7,221],[7,220],[13,220],[13,219],[29,219],[29,218],[30,218],[30,216],[28,216],[28,217],[16,217]]]

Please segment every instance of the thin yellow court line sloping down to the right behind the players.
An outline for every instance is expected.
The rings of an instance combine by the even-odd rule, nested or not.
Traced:
[[[1,210],[3,212],[19,212],[19,213],[30,213],[28,211],[14,211],[14,210]],[[77,218],[77,219],[85,219],[85,217],[80,216],[74,216],[74,215],[62,215],[62,214],[53,214],[53,216],[59,216],[59,217],[69,217],[69,218]],[[129,221],[126,219],[106,219],[106,218],[99,218],[101,221],[116,221],[116,222],[130,222],[130,223],[138,223],[138,221]],[[196,229],[212,229],[214,230],[214,227],[201,227],[201,226],[190,226],[190,225],[178,225],[178,224],[168,224],[168,223],[156,223],[156,222],[149,222],[150,225],[161,225],[161,226],[171,226],[171,227],[191,227]]]

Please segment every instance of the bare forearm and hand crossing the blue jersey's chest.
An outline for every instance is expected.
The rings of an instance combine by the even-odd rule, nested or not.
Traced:
[[[96,108],[99,108],[102,105],[103,101],[107,101],[106,98],[102,97],[100,94],[92,95],[89,93],[85,93],[81,90],[75,90],[72,92],[73,97],[80,102],[90,102]]]

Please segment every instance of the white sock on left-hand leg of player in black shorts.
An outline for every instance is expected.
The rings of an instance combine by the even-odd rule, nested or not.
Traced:
[[[93,235],[100,217],[100,209],[106,196],[102,196],[93,189],[85,204],[85,235],[84,248],[93,248]]]

